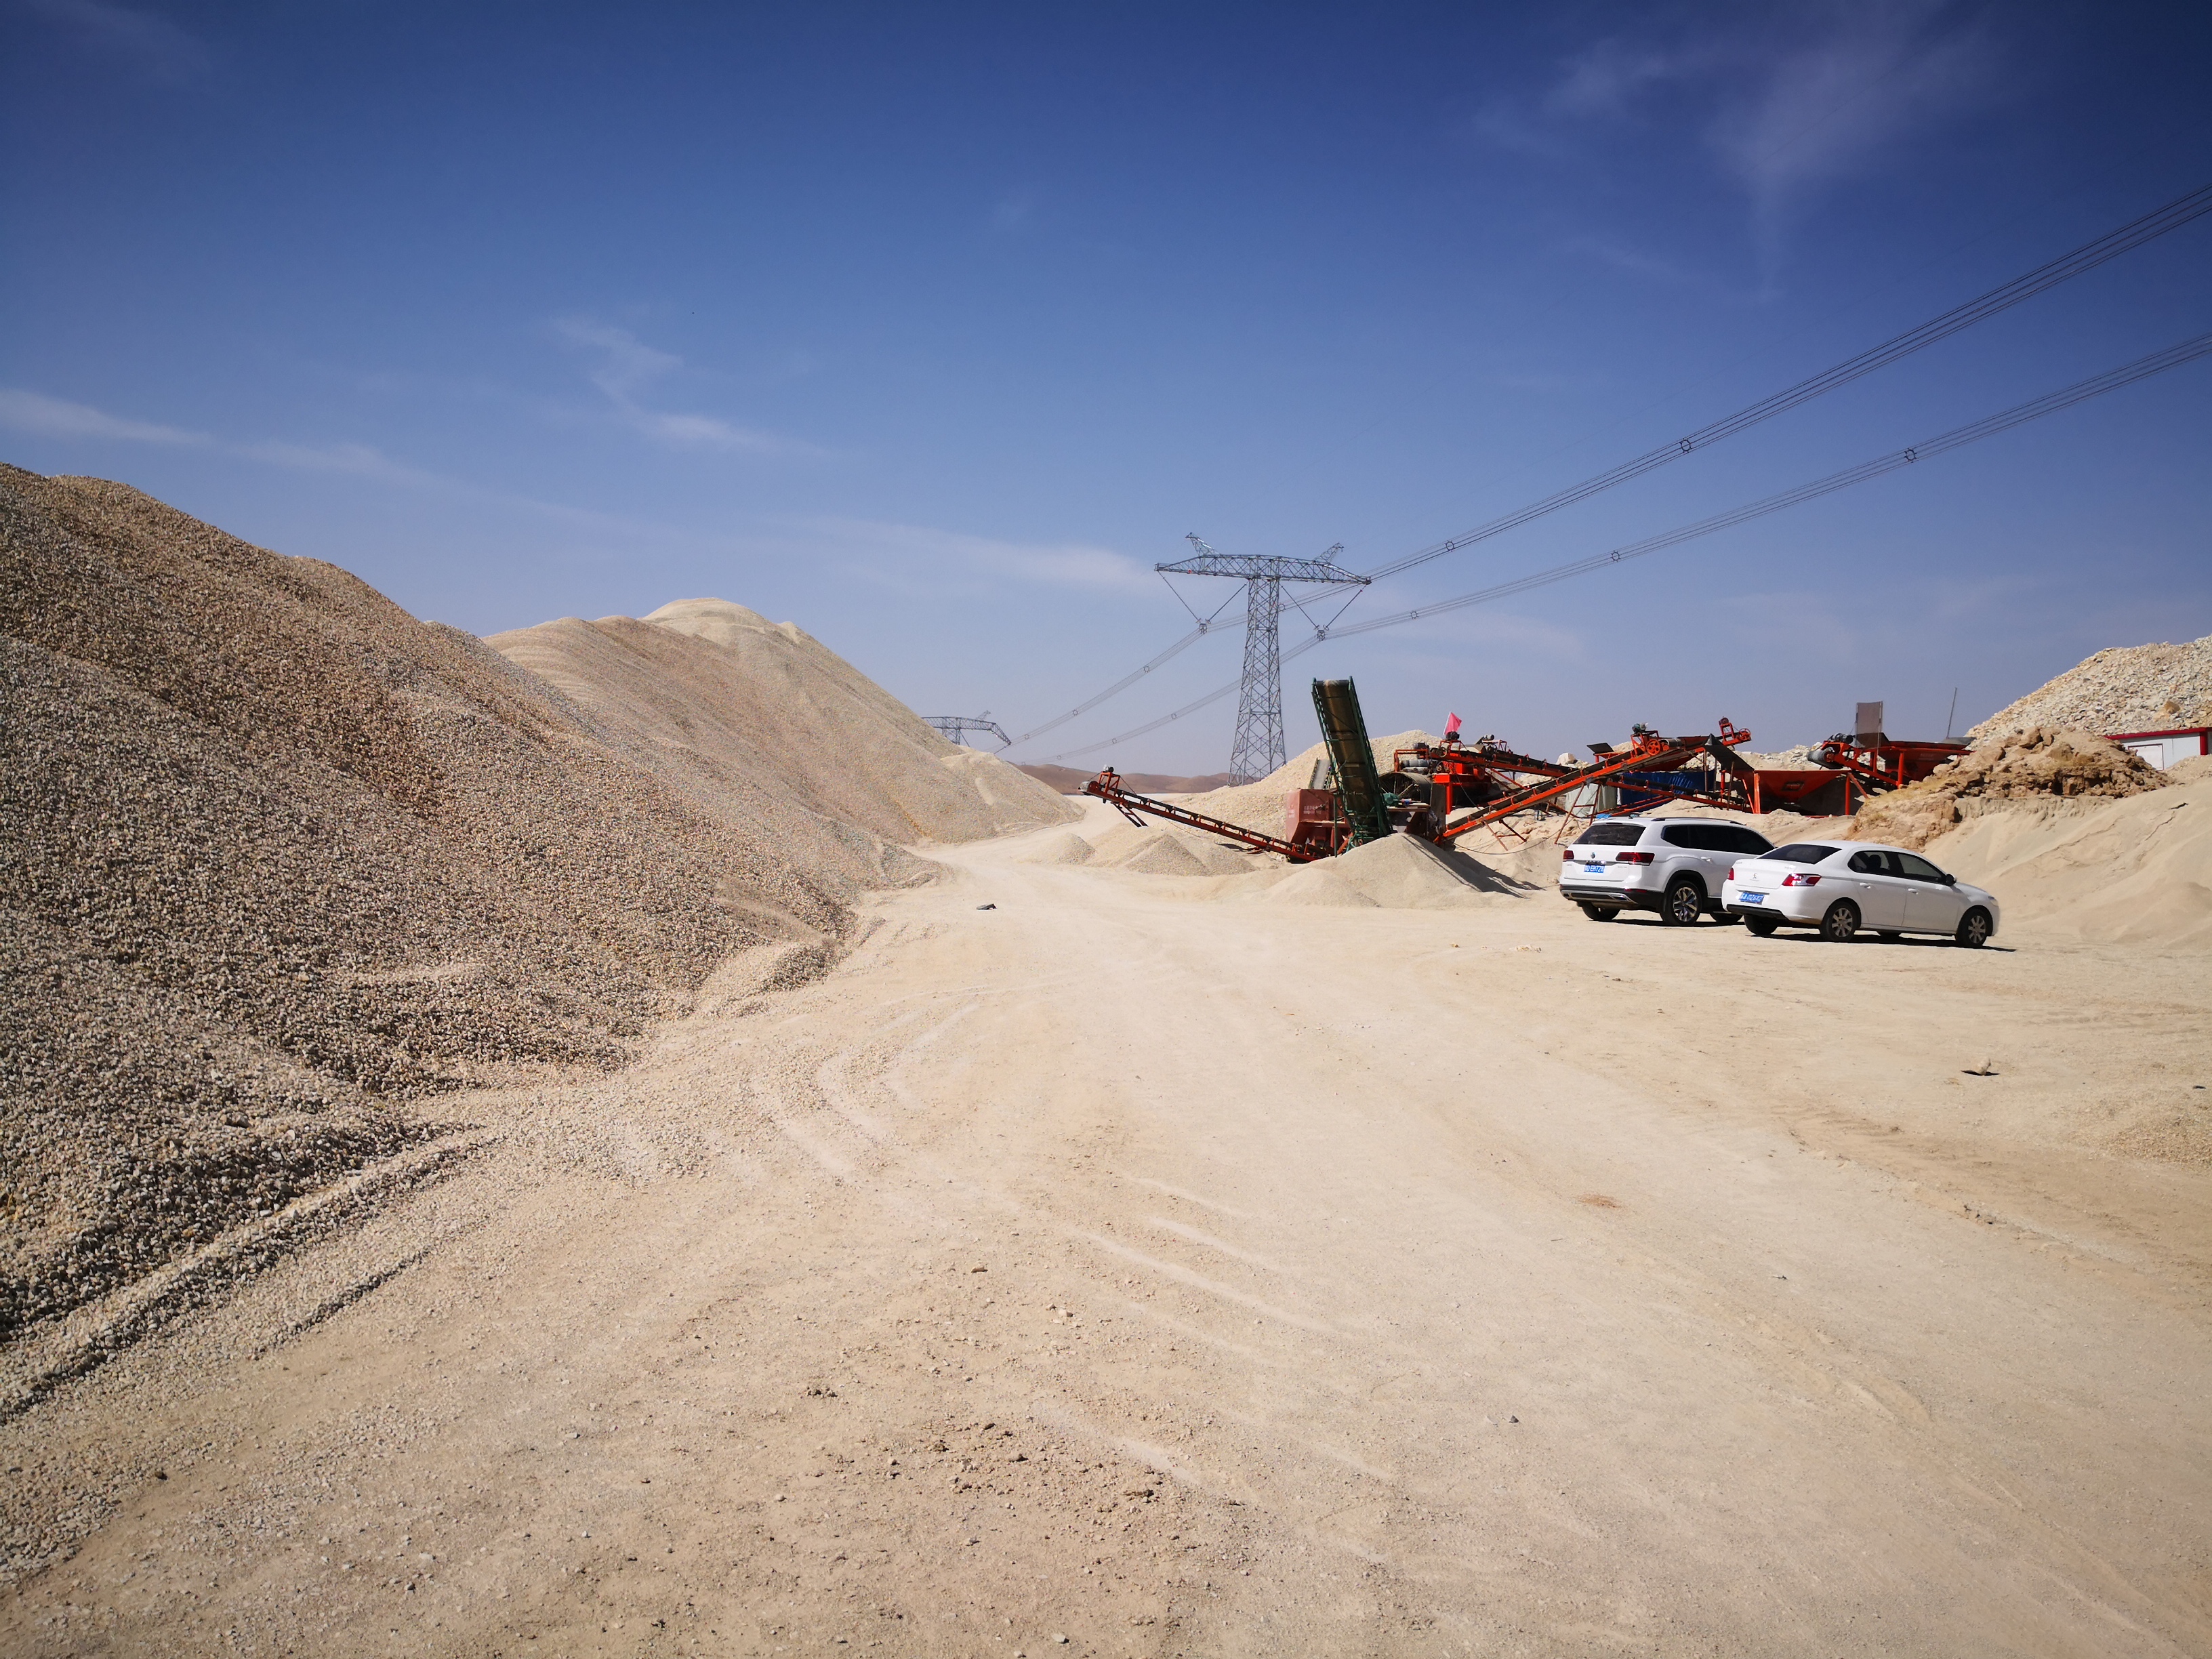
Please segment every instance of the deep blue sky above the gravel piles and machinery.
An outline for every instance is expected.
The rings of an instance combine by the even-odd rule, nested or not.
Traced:
[[[1383,564],[2212,179],[2190,7],[0,0],[0,458],[476,633],[695,595],[1040,726],[1150,573]],[[2212,330],[2212,219],[1400,611]],[[2212,361],[1577,582],[1332,641],[1378,728],[1936,737],[2212,633]],[[1203,584],[1183,584],[1210,604]],[[1212,602],[1223,597],[1212,595]],[[1292,617],[1285,644],[1303,624]],[[1214,770],[1210,637],[1015,752]]]

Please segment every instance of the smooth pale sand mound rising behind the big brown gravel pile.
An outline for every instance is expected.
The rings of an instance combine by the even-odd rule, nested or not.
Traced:
[[[995,754],[947,743],[805,630],[728,599],[681,599],[644,619],[564,617],[487,644],[714,810],[792,832],[796,818],[832,818],[898,843],[1079,816]]]

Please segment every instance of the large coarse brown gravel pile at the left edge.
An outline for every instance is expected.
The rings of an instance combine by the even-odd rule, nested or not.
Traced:
[[[0,1336],[436,1133],[400,1102],[622,1062],[732,951],[834,947],[927,872],[816,816],[852,799],[812,757],[748,814],[768,770],[712,801],[630,748],[334,566],[0,469]],[[916,821],[1011,812],[911,754]]]

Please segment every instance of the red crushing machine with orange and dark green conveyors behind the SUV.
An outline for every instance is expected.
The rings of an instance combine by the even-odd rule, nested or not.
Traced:
[[[1321,741],[1329,754],[1329,787],[1292,790],[1281,836],[1210,818],[1172,801],[1133,794],[1121,787],[1121,776],[1113,768],[1091,779],[1084,794],[1106,801],[1130,823],[1164,818],[1250,852],[1281,854],[1294,865],[1332,858],[1389,834],[1413,834],[1444,845],[1473,830],[1504,825],[1522,812],[1559,812],[1593,785],[1619,790],[1639,805],[1699,801],[1747,810],[1750,768],[1734,750],[1752,734],[1725,719],[1712,737],[1668,739],[1637,726],[1621,748],[1593,743],[1588,765],[1515,754],[1493,739],[1460,743],[1451,737],[1442,743],[1396,750],[1391,770],[1383,772],[1367,739],[1358,688],[1349,679],[1314,681],[1314,717],[1321,721]],[[1705,765],[1692,768],[1690,763],[1699,759]],[[1473,812],[1453,823],[1453,814],[1464,807]]]

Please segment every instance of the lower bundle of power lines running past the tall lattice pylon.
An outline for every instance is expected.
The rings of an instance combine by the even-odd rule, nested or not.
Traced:
[[[1922,460],[1933,460],[1936,456],[1949,453],[1951,449],[1962,449],[1964,445],[1980,442],[1982,438],[1995,438],[2000,431],[2011,431],[2028,420],[2042,420],[2059,409],[2070,409],[2077,403],[2088,403],[2106,392],[2117,392],[2119,387],[2135,385],[2137,380],[2148,380],[2152,374],[2163,374],[2166,369],[2177,369],[2183,363],[2192,363],[2205,354],[2212,354],[2212,334],[2199,334],[2197,338],[2170,345],[2163,352],[2152,352],[2150,356],[2126,363],[2117,369],[2106,369],[2104,374],[2093,374],[2088,380],[2075,380],[2070,387],[2059,392],[2048,392],[2042,398],[2031,398],[2028,403],[2013,405],[2002,414],[1984,416],[1982,420],[1971,420],[1964,427],[1953,427],[1951,431],[1938,434],[1907,449],[1896,449],[1887,456],[1876,456],[1858,467],[1847,467],[1840,473],[1829,473],[1827,478],[1816,478],[1809,484],[1798,484],[1796,489],[1785,489],[1778,495],[1765,495],[1756,502],[1745,502],[1743,507],[1732,507],[1725,513],[1714,513],[1712,518],[1701,518],[1694,524],[1683,524],[1672,531],[1661,531],[1641,542],[1630,542],[1628,546],[1610,549],[1608,553],[1593,553],[1584,560],[1573,560],[1571,564],[1555,564],[1548,571],[1533,571],[1531,575],[1513,577],[1511,582],[1498,582],[1486,588],[1475,588],[1473,593],[1460,593],[1449,599],[1433,599],[1411,611],[1398,611],[1387,617],[1369,617],[1367,622],[1356,622],[1349,628],[1336,628],[1327,637],[1345,639],[1349,635],[1374,633],[1378,628],[1396,628],[1407,622],[1420,622],[1422,617],[1436,617],[1447,611],[1464,611],[1473,604],[1489,604],[1491,599],[1506,599],[1515,593],[1528,593],[1531,588],[1551,586],[1553,582],[1566,582],[1575,575],[1588,575],[1590,571],[1604,571],[1615,564],[1626,564],[1628,560],[1639,560],[1646,553],[1659,553],[1668,546],[1679,546],[1681,542],[1697,540],[1699,535],[1712,535],[1717,531],[1734,529],[1736,524],[1747,524],[1754,518],[1765,518],[1767,513],[1778,513],[1785,507],[1801,507],[1803,502],[1816,500],[1820,495],[1832,495],[1838,489],[1849,489],[1851,484],[1865,484],[1871,478],[1900,471],[1902,467],[1913,467]],[[1283,661],[1292,657],[1303,657],[1314,646],[1323,644],[1323,635],[1312,639],[1301,639],[1283,653]],[[1137,726],[1117,737],[1102,739],[1097,743],[1086,743],[1084,748],[1066,750],[1064,754],[1053,754],[1053,761],[1066,761],[1075,754],[1088,754],[1091,750],[1108,748],[1121,743],[1130,737],[1144,737],[1146,732],[1157,732],[1170,721],[1183,719],[1208,703],[1217,703],[1237,690],[1237,681],[1219,686],[1203,697],[1183,703],[1181,708],[1161,714],[1146,726]]]

